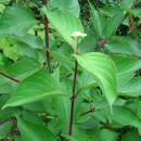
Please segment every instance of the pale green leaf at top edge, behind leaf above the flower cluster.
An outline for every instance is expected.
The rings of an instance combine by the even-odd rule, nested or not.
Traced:
[[[67,10],[72,12],[74,15],[79,17],[80,5],[78,0],[52,0],[52,7],[60,8],[62,10]]]

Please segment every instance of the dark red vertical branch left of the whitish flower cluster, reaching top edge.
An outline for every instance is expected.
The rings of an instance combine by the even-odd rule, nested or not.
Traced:
[[[43,4],[48,4],[48,0],[43,0]],[[46,30],[46,46],[47,46],[47,63],[50,69],[50,52],[49,52],[49,26],[48,26],[48,17],[44,16],[44,30]]]

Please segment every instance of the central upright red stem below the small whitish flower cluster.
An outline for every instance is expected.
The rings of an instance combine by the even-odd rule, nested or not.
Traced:
[[[74,104],[75,104],[75,88],[76,88],[76,77],[77,77],[77,67],[78,63],[75,61],[75,74],[74,74],[74,81],[73,81],[73,97],[72,97],[72,105],[70,105],[70,121],[68,125],[68,134],[72,134],[73,129],[73,118],[74,118]]]

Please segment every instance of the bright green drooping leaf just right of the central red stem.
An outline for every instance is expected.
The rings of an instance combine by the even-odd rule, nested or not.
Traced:
[[[107,55],[98,52],[75,55],[79,65],[98,79],[110,105],[116,99],[116,66]]]

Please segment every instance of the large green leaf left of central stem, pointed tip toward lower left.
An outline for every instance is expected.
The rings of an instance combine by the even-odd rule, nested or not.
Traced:
[[[65,95],[61,84],[59,85],[46,69],[40,69],[24,79],[15,93],[3,106],[17,106],[50,97]]]

